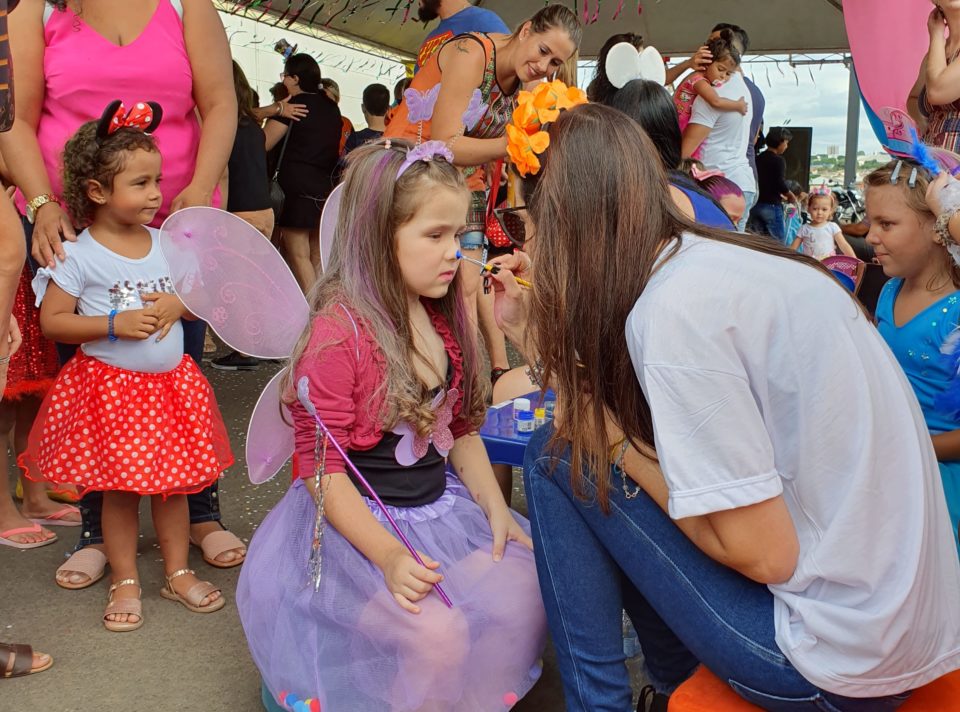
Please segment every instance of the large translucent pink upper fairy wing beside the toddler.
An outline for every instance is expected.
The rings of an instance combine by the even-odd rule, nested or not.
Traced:
[[[160,249],[177,295],[227,345],[257,358],[290,356],[310,308],[283,258],[249,223],[186,208],[160,227]]]

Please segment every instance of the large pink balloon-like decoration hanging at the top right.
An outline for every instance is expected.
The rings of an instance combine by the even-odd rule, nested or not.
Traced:
[[[843,0],[860,91],[876,111],[907,108],[929,47],[930,0]]]

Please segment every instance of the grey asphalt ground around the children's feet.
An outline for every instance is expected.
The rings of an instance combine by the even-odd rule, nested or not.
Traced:
[[[271,482],[253,485],[243,464],[248,418],[277,368],[272,364],[255,372],[221,372],[209,364],[203,368],[213,383],[237,458],[220,484],[223,521],[245,542],[290,481],[288,465]],[[16,474],[11,469],[9,475],[12,489]],[[514,472],[513,504],[526,512],[519,471]],[[198,615],[161,598],[163,566],[144,503],[139,546],[144,625],[133,633],[110,633],[101,624],[109,575],[80,591],[57,586],[54,571],[72,551],[79,528],[54,531],[59,540],[49,546],[26,551],[0,547],[0,641],[29,643],[54,658],[46,672],[0,681],[0,712],[262,711],[260,677],[234,605],[239,568],[208,566],[191,547],[190,566],[223,588],[227,605],[217,613]],[[636,667],[631,666],[635,682]],[[552,649],[545,654],[540,682],[514,709],[564,710]]]

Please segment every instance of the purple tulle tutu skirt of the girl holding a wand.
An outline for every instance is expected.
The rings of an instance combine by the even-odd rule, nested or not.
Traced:
[[[436,502],[389,510],[411,543],[441,563],[453,608],[431,593],[419,615],[404,611],[380,570],[329,524],[315,592],[308,566],[316,507],[298,480],[257,529],[237,589],[267,688],[274,699],[319,700],[324,712],[509,709],[540,677],[546,641],[533,553],[510,542],[494,562],[487,519],[453,477]]]

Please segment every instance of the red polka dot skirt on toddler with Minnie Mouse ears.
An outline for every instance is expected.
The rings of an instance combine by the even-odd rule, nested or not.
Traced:
[[[213,388],[193,359],[166,373],[79,351],[34,421],[20,466],[34,480],[90,490],[190,494],[233,464]]]

